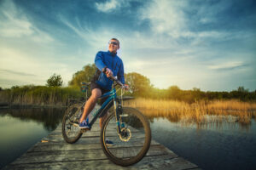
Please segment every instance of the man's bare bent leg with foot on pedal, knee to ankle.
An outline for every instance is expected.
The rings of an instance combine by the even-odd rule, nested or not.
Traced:
[[[89,115],[90,111],[92,111],[93,108],[95,107],[97,99],[101,96],[102,96],[102,90],[100,88],[94,88],[91,91],[90,98],[87,100],[87,102],[84,105],[84,112],[79,120],[79,123],[83,122],[84,119]]]

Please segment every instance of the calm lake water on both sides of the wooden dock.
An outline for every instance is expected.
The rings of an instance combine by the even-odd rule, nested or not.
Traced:
[[[0,168],[61,123],[65,109],[1,109]],[[183,125],[150,117],[153,139],[203,169],[256,169],[256,122]]]

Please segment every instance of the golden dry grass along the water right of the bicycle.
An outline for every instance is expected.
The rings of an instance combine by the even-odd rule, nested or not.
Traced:
[[[134,99],[124,103],[139,109],[146,116],[165,116],[171,122],[241,122],[256,117],[256,103],[238,100],[198,101],[188,104],[177,100]]]

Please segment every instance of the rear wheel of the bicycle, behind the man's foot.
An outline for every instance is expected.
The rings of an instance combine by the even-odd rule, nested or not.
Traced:
[[[63,139],[65,139],[65,141],[69,144],[77,142],[83,134],[79,127],[74,126],[73,123],[79,121],[78,114],[81,114],[81,112],[79,113],[81,107],[81,104],[73,104],[69,106],[62,119],[62,136]]]

